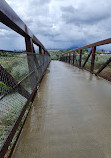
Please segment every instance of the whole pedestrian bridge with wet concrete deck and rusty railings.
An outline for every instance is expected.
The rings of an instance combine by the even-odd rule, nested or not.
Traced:
[[[51,61],[5,0],[0,22],[26,46],[0,50],[0,158],[111,158],[111,56],[96,51],[111,38]]]

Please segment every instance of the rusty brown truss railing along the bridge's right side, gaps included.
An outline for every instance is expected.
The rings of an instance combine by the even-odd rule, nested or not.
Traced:
[[[111,54],[99,54],[96,51],[97,46],[110,43],[111,38],[68,51],[60,56],[60,60],[111,81]],[[88,52],[84,54],[85,49]]]

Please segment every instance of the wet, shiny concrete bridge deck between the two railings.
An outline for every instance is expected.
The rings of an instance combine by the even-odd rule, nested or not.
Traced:
[[[111,84],[51,62],[13,158],[111,158]]]

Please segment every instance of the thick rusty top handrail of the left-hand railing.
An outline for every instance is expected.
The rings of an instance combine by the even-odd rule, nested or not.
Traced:
[[[0,0],[0,21],[23,37],[31,38],[34,44],[41,47],[46,54],[49,55],[43,44],[37,39],[37,37],[31,32],[27,25],[19,18],[5,0]]]

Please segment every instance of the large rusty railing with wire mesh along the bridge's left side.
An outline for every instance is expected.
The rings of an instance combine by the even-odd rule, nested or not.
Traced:
[[[0,158],[11,157],[50,55],[10,6],[0,1],[0,21],[25,38],[26,52],[0,51]],[[35,53],[33,43],[39,47]]]

